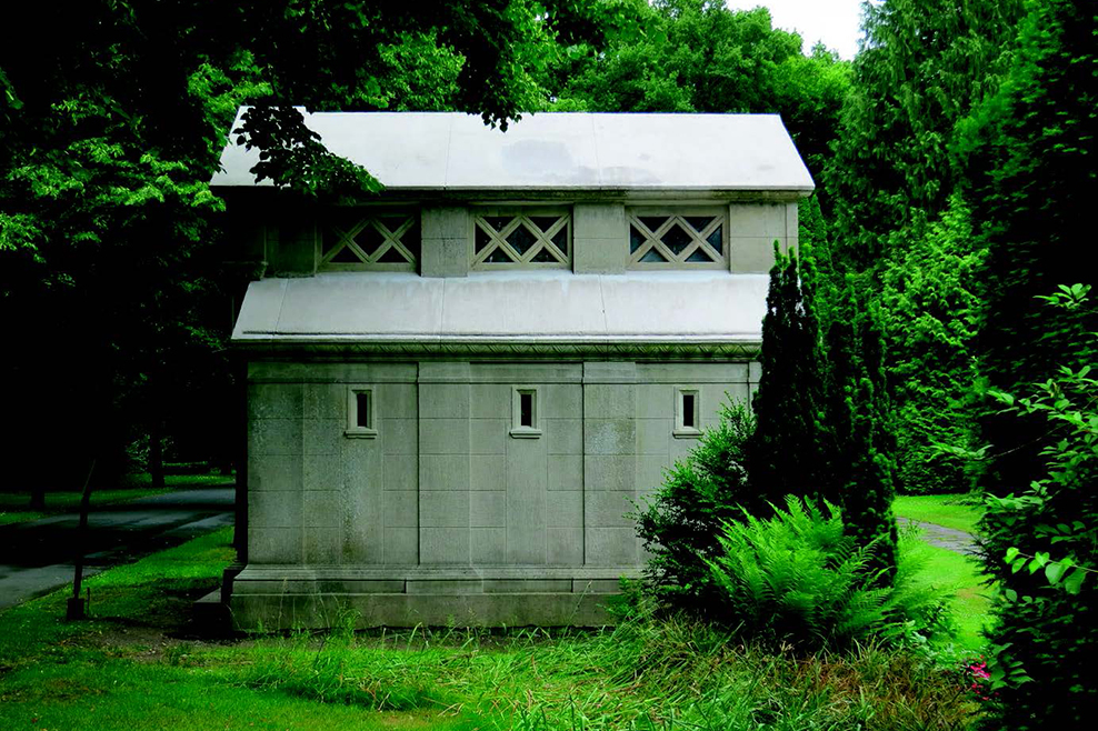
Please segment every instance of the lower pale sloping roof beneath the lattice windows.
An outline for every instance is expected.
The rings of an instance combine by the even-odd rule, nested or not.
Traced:
[[[766,274],[722,271],[599,276],[567,271],[339,272],[248,286],[238,344],[757,344]]]

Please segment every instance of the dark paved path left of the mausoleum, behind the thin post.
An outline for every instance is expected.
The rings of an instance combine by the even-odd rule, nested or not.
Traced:
[[[129,563],[232,524],[232,485],[179,490],[96,508],[88,515],[84,575]],[[78,513],[0,527],[0,609],[72,582]]]

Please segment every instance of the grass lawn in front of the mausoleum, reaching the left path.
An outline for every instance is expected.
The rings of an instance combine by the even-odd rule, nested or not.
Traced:
[[[58,620],[64,592],[0,613],[0,728],[915,731],[975,718],[959,677],[906,652],[773,654],[677,621],[201,639],[190,601],[217,584],[229,539],[89,579],[92,621]],[[937,579],[966,580],[928,555]]]

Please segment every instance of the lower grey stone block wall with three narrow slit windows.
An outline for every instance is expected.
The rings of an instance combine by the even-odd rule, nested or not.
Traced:
[[[705,428],[757,379],[748,363],[254,362],[236,621],[602,623],[643,559],[628,513],[696,443],[675,434],[677,389]],[[373,439],[345,435],[363,385]],[[516,388],[537,390],[538,437],[510,434]]]

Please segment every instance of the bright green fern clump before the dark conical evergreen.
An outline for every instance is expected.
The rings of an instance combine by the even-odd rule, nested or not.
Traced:
[[[807,650],[846,649],[932,629],[940,602],[900,572],[881,585],[875,543],[844,533],[839,510],[793,495],[773,517],[726,523],[708,559],[720,619],[751,641]]]

